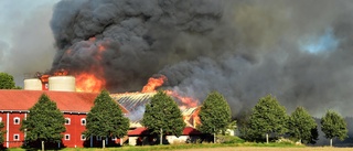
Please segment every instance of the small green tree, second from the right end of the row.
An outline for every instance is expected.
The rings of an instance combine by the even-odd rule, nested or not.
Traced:
[[[291,137],[303,143],[314,143],[318,140],[318,125],[303,107],[289,117],[288,130]]]

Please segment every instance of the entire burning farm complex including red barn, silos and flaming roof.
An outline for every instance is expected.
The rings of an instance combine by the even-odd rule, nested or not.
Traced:
[[[151,77],[148,84],[143,87],[143,93],[124,93],[124,94],[111,94],[110,97],[119,104],[122,112],[130,119],[130,130],[128,136],[107,142],[120,143],[129,139],[131,144],[136,144],[136,138],[140,138],[145,129],[139,122],[145,112],[146,104],[149,104],[150,98],[153,97],[156,88],[163,85],[167,80],[164,76]],[[64,114],[66,119],[65,127],[66,131],[63,133],[64,139],[62,140],[64,147],[84,147],[100,144],[98,138],[92,137],[89,142],[86,141],[86,137],[82,134],[85,130],[86,115],[94,106],[94,100],[98,93],[95,89],[95,85],[82,85],[79,87],[89,89],[88,93],[78,91],[75,89],[76,83],[74,76],[65,74],[40,75],[38,78],[24,79],[24,90],[0,90],[0,121],[6,125],[6,142],[4,147],[14,148],[21,147],[24,143],[25,133],[20,131],[20,123],[26,117],[29,109],[38,101],[41,94],[46,94],[53,101],[56,103],[58,109]],[[95,83],[93,83],[95,84]],[[85,87],[86,86],[86,87]],[[100,89],[99,89],[100,90]],[[183,137],[173,138],[169,136],[169,140],[185,141],[190,134],[195,133],[195,127],[200,123],[197,114],[197,100],[192,98],[183,97],[167,90],[171,97],[180,106],[186,128],[183,131]],[[146,134],[146,133],[145,133]]]

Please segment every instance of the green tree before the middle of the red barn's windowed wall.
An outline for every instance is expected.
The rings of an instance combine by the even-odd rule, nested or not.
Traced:
[[[30,108],[26,119],[21,125],[21,131],[25,132],[25,141],[30,145],[39,148],[42,143],[58,143],[66,131],[64,126],[65,119],[56,103],[52,101],[45,94],[43,94],[39,101]]]

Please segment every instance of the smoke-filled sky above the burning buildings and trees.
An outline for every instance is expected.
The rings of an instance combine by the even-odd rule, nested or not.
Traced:
[[[234,115],[267,94],[288,112],[303,106],[317,117],[327,109],[353,114],[353,1],[46,4],[9,25],[14,28],[0,43],[0,68],[89,72],[115,93],[140,90],[149,77],[163,74],[169,79],[164,88],[201,100],[221,91]],[[1,24],[13,19],[1,19]]]

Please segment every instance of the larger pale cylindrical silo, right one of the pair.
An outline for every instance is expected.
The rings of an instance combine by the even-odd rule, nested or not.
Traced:
[[[52,76],[49,78],[49,90],[75,91],[75,77],[73,76]]]

